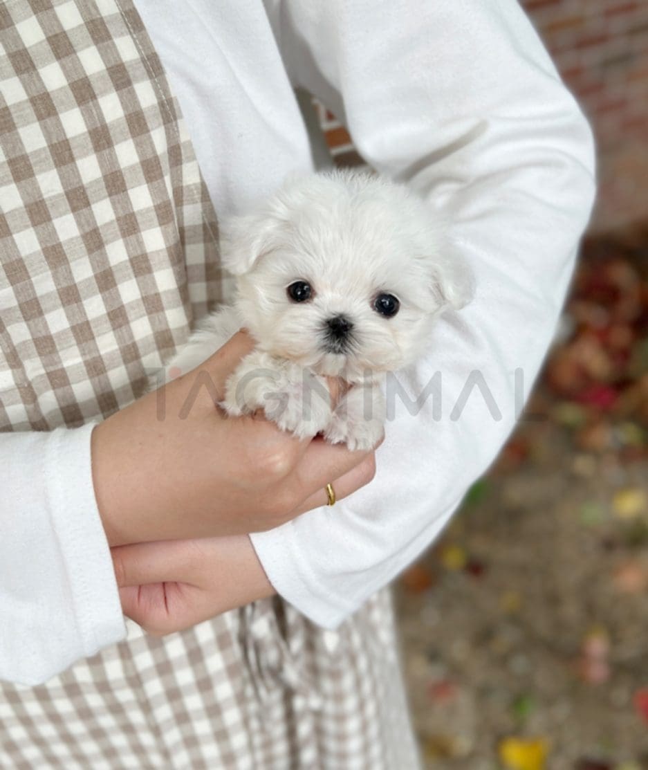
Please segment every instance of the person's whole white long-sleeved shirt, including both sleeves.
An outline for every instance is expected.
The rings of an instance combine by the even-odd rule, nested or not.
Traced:
[[[590,128],[516,0],[136,5],[217,211],[312,168],[299,85],[446,213],[476,276],[392,380],[372,483],[252,535],[279,594],[333,628],[434,540],[513,429],[590,216]],[[402,395],[426,387],[419,407]],[[0,679],[45,681],[125,637],[90,432],[0,434]]]

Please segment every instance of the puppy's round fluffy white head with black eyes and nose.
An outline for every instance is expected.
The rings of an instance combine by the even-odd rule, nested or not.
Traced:
[[[349,379],[410,363],[434,318],[472,290],[430,207],[359,172],[290,179],[222,225],[221,256],[260,347]]]

